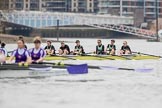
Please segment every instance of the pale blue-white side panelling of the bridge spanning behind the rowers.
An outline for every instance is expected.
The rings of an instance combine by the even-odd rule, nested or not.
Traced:
[[[60,25],[85,25],[85,24],[126,24],[133,25],[133,17],[94,15],[80,13],[51,13],[38,11],[14,11],[5,13],[7,21],[29,27],[43,28]]]

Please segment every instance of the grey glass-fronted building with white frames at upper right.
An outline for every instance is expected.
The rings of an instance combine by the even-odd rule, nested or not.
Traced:
[[[120,16],[134,16],[141,9],[147,21],[156,18],[156,0],[99,0],[99,13]],[[158,0],[159,17],[162,17],[162,0]],[[136,13],[140,16],[141,11]]]

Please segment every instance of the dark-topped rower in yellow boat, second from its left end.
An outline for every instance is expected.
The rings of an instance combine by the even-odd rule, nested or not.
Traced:
[[[64,43],[64,41],[61,42],[61,47],[59,49],[59,55],[69,55],[70,54],[70,48],[68,45]]]

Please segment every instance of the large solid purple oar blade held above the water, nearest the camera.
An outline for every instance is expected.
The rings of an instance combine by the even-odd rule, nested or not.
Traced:
[[[87,74],[88,65],[80,64],[80,65],[67,66],[67,71],[69,72],[69,74]]]

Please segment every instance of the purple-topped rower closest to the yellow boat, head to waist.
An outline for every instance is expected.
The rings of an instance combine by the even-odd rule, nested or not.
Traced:
[[[41,38],[35,37],[33,42],[35,47],[29,50],[32,62],[43,62],[46,56],[46,52],[44,51],[44,49],[41,48]]]

